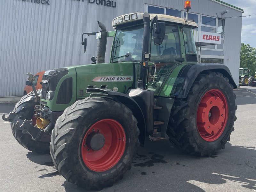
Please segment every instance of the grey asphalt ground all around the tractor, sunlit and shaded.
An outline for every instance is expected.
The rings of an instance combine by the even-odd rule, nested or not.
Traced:
[[[196,157],[180,152],[168,140],[147,140],[124,179],[102,191],[256,191],[256,87],[240,88],[234,90],[235,131],[224,150]],[[8,105],[0,104],[0,113],[10,112],[13,105]],[[1,192],[85,191],[57,172],[50,155],[20,146],[2,119],[0,130]]]

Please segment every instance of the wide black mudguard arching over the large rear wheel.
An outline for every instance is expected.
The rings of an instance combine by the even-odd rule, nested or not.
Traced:
[[[204,63],[185,65],[177,76],[170,97],[186,98],[196,77],[204,71],[220,72],[229,79],[229,83],[236,89],[236,83],[227,66],[219,63]]]

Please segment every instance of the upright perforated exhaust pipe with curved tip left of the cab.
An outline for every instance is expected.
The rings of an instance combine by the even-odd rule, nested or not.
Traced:
[[[107,28],[106,26],[98,21],[100,32],[101,32],[101,38],[99,39],[98,44],[98,52],[97,52],[97,63],[105,63],[105,54],[106,54],[106,47],[107,47]]]

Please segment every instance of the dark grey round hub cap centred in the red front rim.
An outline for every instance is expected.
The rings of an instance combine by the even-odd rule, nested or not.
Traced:
[[[86,145],[88,148],[92,149],[93,151],[98,151],[103,148],[105,144],[105,137],[103,134],[98,132],[92,132],[86,138]]]

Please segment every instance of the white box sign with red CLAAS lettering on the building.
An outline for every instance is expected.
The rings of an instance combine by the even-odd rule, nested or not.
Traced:
[[[193,31],[195,42],[207,44],[221,44],[221,34],[204,31]]]

